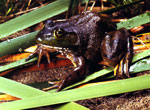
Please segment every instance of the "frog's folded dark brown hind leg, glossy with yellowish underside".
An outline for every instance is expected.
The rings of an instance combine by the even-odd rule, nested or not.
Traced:
[[[126,29],[109,32],[101,44],[101,55],[109,66],[114,67],[114,75],[129,77],[129,68],[133,57],[133,43]]]

